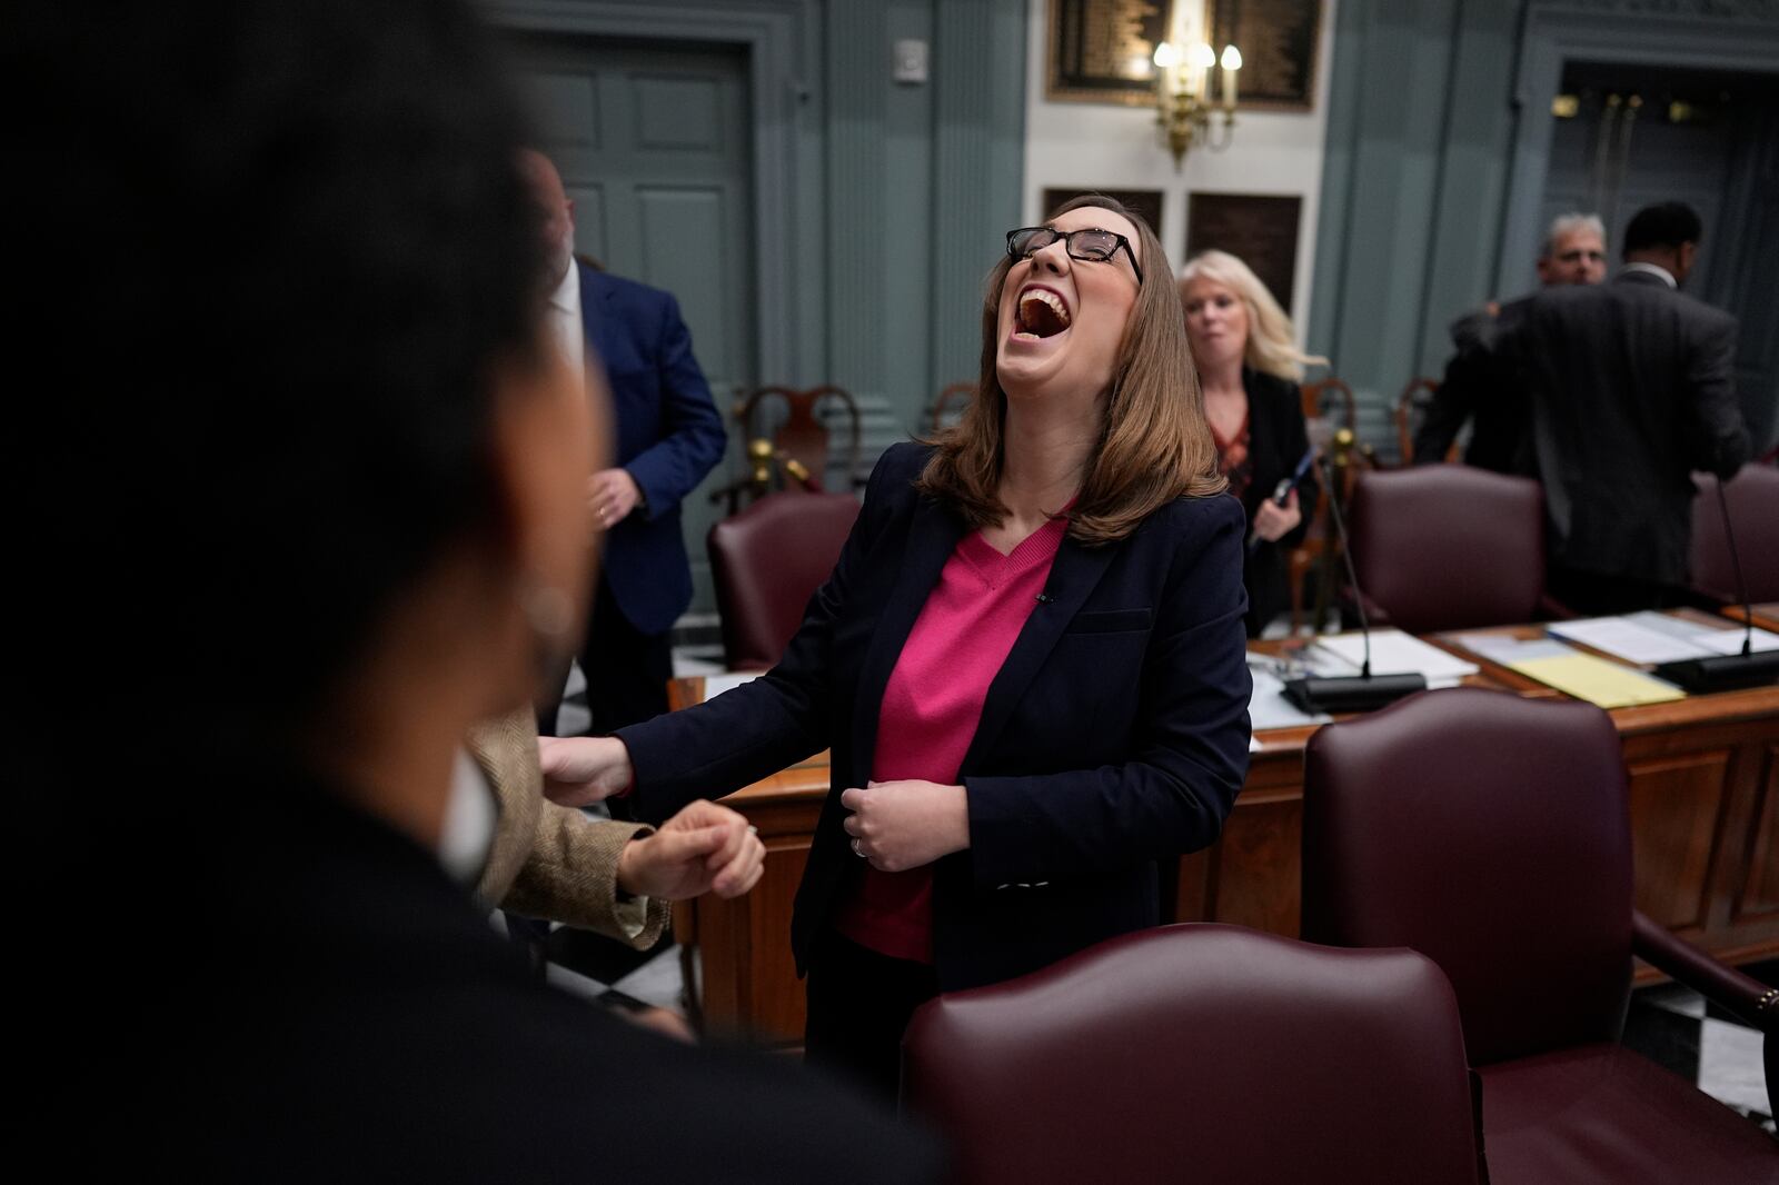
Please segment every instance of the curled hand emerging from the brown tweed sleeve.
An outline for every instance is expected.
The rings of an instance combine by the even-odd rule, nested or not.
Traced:
[[[617,858],[617,888],[637,897],[685,900],[740,897],[765,874],[767,847],[728,806],[699,799]]]

